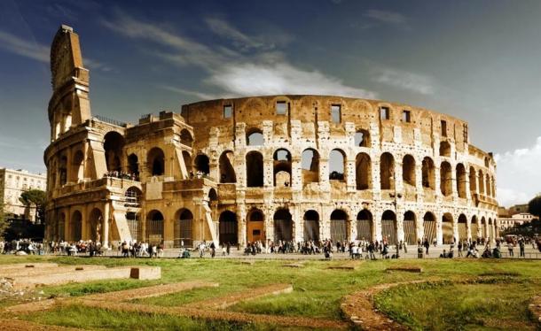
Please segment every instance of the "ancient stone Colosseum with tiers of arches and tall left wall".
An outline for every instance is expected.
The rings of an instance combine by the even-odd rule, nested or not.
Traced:
[[[51,45],[49,240],[354,241],[497,235],[496,163],[467,122],[342,96],[184,104],[137,124],[92,115],[79,37]]]

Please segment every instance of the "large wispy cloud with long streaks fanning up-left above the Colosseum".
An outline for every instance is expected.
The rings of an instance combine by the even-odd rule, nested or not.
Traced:
[[[330,94],[369,97],[373,92],[346,85],[341,80],[318,70],[300,69],[287,61],[284,53],[273,50],[261,38],[242,33],[223,19],[206,19],[211,32],[232,41],[235,50],[223,45],[206,45],[169,29],[117,12],[114,21],[104,21],[105,27],[129,37],[160,46],[153,55],[175,65],[200,66],[208,77],[203,80],[209,87],[218,88],[225,96],[271,94]],[[281,40],[286,41],[286,37]],[[249,54],[244,50],[252,50]],[[237,50],[240,50],[237,51]],[[162,87],[164,89],[164,87]],[[192,94],[203,98],[206,93],[191,89],[165,87],[165,89]]]

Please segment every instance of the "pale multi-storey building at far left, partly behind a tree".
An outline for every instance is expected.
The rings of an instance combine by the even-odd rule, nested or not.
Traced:
[[[26,170],[0,168],[0,202],[4,211],[13,219],[35,221],[35,206],[27,208],[20,203],[20,194],[28,189],[47,189],[47,176],[43,173],[29,173]]]

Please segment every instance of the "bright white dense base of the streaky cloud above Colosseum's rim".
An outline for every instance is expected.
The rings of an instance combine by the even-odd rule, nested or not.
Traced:
[[[374,98],[373,92],[345,85],[318,71],[304,71],[286,63],[224,65],[207,81],[233,96],[313,94]]]

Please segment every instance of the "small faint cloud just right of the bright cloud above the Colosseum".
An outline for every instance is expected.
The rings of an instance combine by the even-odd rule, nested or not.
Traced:
[[[423,95],[434,94],[434,81],[430,77],[419,73],[410,73],[392,68],[380,68],[373,70],[372,80]]]

